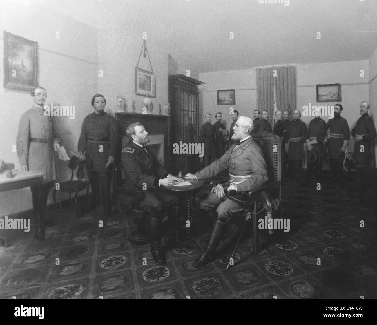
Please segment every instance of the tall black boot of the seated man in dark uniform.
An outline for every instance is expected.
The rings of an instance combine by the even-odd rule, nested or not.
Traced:
[[[155,262],[165,264],[166,259],[161,251],[161,227],[162,227],[162,209],[150,208],[149,211],[149,238],[150,252]]]

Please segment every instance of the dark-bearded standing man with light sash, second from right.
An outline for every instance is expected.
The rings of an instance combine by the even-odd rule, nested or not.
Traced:
[[[331,171],[334,173],[334,179],[331,182],[338,181],[340,187],[344,187],[343,160],[351,135],[346,119],[340,116],[342,111],[343,106],[341,104],[334,105],[334,118],[329,119],[326,123],[326,130],[329,132],[328,156],[330,168],[332,167]]]

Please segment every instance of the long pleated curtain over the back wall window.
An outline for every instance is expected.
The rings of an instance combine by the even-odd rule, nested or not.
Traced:
[[[274,70],[276,70],[274,77]],[[275,123],[275,110],[289,110],[291,116],[296,109],[296,67],[269,67],[256,69],[257,107],[266,110],[270,123]]]

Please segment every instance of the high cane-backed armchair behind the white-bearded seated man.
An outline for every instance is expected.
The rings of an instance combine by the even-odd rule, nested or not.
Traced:
[[[245,224],[238,237],[233,253],[230,255],[229,261],[233,258],[238,243],[245,230],[247,221],[253,218],[253,251],[254,255],[258,255],[258,220],[261,217],[272,218],[273,212],[279,217],[282,215],[282,139],[272,133],[266,131],[253,134],[253,139],[261,148],[265,162],[267,164],[268,182],[266,185],[253,189],[249,195],[253,199],[253,203],[248,209]],[[221,183],[221,182],[218,182]],[[217,183],[213,183],[215,186]],[[227,268],[229,267],[228,263]]]

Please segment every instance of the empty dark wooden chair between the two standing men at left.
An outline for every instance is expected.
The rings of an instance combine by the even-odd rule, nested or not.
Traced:
[[[81,214],[81,209],[77,204],[78,200],[78,193],[86,189],[86,198],[90,210],[90,201],[89,201],[89,185],[90,185],[90,163],[87,161],[80,161],[77,157],[73,156],[71,157],[68,167],[71,170],[71,177],[70,180],[67,182],[56,182],[55,184],[55,189],[54,189],[54,194],[53,194],[53,200],[54,200],[54,209],[56,211],[56,199],[55,195],[58,194],[58,200],[59,200],[59,205],[60,205],[60,212],[62,213],[61,209],[61,203],[60,203],[60,197],[59,197],[59,192],[65,192],[69,193],[69,202],[72,206],[72,208],[75,209],[76,211],[76,217],[79,217]],[[76,180],[74,180],[74,172],[77,169],[76,172]],[[86,180],[84,180],[86,179]],[[59,186],[56,186],[59,184]],[[58,187],[58,189],[57,189]],[[71,193],[75,193],[75,205],[72,204],[72,197]]]

